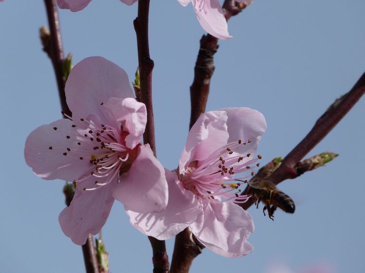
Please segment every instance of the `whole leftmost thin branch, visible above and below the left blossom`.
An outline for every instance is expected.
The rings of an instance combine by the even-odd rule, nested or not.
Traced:
[[[72,113],[66,103],[65,79],[62,73],[62,63],[64,57],[63,57],[61,32],[59,28],[57,4],[56,0],[44,0],[44,3],[47,11],[50,35],[42,36],[41,32],[43,50],[47,53],[47,55],[51,59],[53,68],[55,70],[55,76],[58,86],[58,95],[61,102],[61,109],[65,114],[71,117]],[[71,203],[72,197],[73,196],[71,195],[66,196],[66,200],[68,203],[69,202]],[[86,244],[82,246],[82,252],[84,254],[86,273],[99,273],[98,261],[94,246],[94,239],[92,238],[91,235],[89,235]]]

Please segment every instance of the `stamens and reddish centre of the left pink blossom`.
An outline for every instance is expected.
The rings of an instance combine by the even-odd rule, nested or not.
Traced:
[[[102,104],[103,105],[103,104]],[[66,138],[73,142],[73,147],[66,148],[64,156],[78,157],[79,160],[90,161],[90,174],[78,177],[73,181],[75,185],[82,182],[90,176],[95,177],[96,188],[109,184],[116,175],[128,171],[137,154],[137,148],[129,149],[126,146],[125,138],[128,135],[123,131],[123,127],[115,122],[111,124],[101,124],[94,122],[92,119],[74,120],[66,114],[62,113],[68,119],[73,120],[71,132],[66,133]],[[95,120],[97,120],[95,118]],[[79,129],[78,126],[83,128]],[[58,128],[54,127],[54,130]],[[53,147],[49,147],[53,149]],[[103,178],[103,182],[98,181]],[[96,188],[83,188],[84,190],[94,190]]]

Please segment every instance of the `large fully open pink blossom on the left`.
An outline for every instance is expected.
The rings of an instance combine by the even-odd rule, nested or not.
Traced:
[[[168,192],[163,167],[149,145],[140,144],[146,106],[133,98],[122,68],[102,57],[86,58],[72,69],[65,92],[73,117],[34,130],[24,155],[39,177],[76,184],[59,222],[81,245],[100,231],[114,199],[126,210],[161,212]]]

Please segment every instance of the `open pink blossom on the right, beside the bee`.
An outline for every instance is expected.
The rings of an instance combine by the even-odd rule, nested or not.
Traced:
[[[146,235],[168,239],[190,227],[203,245],[219,255],[249,254],[254,232],[248,212],[235,203],[249,198],[240,184],[252,176],[258,141],[266,130],[261,113],[250,108],[207,112],[191,128],[175,171],[167,171],[169,200],[161,213],[127,211],[130,222]],[[246,172],[234,178],[234,174]],[[243,184],[243,183],[242,183]]]

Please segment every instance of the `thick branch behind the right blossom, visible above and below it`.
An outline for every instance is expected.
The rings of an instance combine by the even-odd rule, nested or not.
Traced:
[[[234,0],[225,0],[223,12],[228,21],[232,16],[246,8],[245,3],[237,3]],[[200,49],[194,68],[194,80],[190,86],[190,124],[194,125],[202,113],[205,112],[209,95],[210,79],[214,73],[214,54],[218,50],[218,38],[211,34],[205,34],[200,40]],[[174,253],[171,260],[171,273],[188,273],[195,257],[201,254],[204,246],[185,228],[175,238]]]

